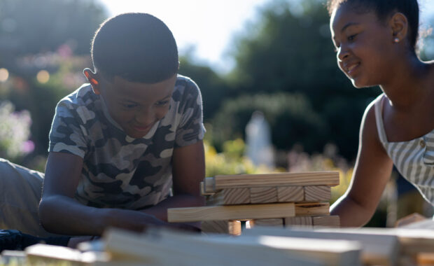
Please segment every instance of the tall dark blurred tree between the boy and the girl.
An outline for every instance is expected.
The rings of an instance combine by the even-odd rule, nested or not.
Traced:
[[[342,155],[352,160],[363,110],[379,90],[355,90],[339,71],[328,20],[323,1],[271,1],[260,10],[260,19],[237,37],[232,51],[237,66],[228,78],[238,95],[276,92],[304,95],[311,112],[321,120],[317,127],[308,128],[316,129],[320,136],[311,132],[307,134],[309,137],[300,138],[302,134],[294,135],[289,129],[282,131],[273,126],[272,132],[288,132],[286,138],[291,143],[300,142],[309,152],[319,152],[332,142]],[[304,127],[304,120],[302,116],[300,120],[288,120],[287,124],[292,128]],[[235,130],[243,126],[235,125]],[[276,136],[273,142],[277,148],[288,148]]]

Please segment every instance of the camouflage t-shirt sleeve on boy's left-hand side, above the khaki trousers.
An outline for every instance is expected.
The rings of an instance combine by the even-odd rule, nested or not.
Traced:
[[[57,104],[49,135],[49,152],[71,153],[84,158],[87,142],[78,111],[80,107],[74,108],[66,100]]]

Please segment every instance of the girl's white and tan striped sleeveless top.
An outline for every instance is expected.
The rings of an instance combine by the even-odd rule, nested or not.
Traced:
[[[411,141],[388,142],[383,124],[383,97],[374,101],[379,138],[400,174],[434,205],[434,130]]]

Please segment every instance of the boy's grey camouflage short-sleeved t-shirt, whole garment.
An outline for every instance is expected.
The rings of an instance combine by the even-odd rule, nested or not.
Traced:
[[[57,104],[48,151],[83,158],[76,199],[92,207],[142,209],[169,196],[174,148],[204,137],[197,85],[178,76],[167,115],[141,139],[109,116],[89,84]]]

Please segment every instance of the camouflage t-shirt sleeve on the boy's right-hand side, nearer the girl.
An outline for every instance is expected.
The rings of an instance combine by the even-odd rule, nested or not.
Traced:
[[[175,147],[195,144],[204,138],[202,95],[193,80],[186,80],[180,104],[181,120],[176,130]]]

